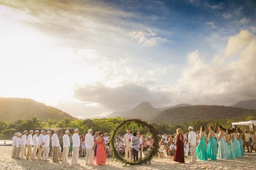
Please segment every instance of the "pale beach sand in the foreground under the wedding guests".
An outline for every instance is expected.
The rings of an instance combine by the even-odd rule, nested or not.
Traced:
[[[0,170],[255,170],[256,153],[245,153],[244,157],[236,160],[217,160],[217,161],[199,161],[195,164],[188,163],[190,156],[185,158],[185,164],[177,164],[172,158],[156,158],[151,164],[125,166],[107,158],[107,164],[98,166],[85,166],[85,157],[79,157],[79,166],[71,164],[52,163],[52,156],[49,156],[49,162],[15,160],[11,159],[12,147],[0,147]],[[94,157],[95,161],[96,157]],[[68,157],[71,162],[71,157]]]

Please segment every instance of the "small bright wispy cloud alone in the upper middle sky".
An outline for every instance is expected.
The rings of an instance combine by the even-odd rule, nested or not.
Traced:
[[[129,34],[133,39],[137,39],[139,43],[143,43],[144,46],[154,46],[167,41],[166,38],[154,37],[157,36],[157,33],[151,31],[149,28],[147,31],[132,31]]]

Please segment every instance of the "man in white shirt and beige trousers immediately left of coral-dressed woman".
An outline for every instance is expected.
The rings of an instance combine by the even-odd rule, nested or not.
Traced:
[[[88,133],[85,136],[85,147],[86,147],[86,156],[85,164],[93,164],[93,155],[94,155],[94,139],[93,139],[93,130],[89,129]]]

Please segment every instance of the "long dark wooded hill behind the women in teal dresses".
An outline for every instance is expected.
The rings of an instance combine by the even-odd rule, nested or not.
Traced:
[[[191,120],[219,120],[247,117],[255,113],[256,111],[253,109],[247,110],[217,105],[193,105],[164,110],[154,117],[154,119],[151,119],[151,121],[155,123],[179,124]]]

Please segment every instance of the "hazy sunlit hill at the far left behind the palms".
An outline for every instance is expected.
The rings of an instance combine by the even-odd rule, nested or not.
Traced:
[[[19,119],[31,119],[32,116],[38,116],[41,121],[61,120],[65,117],[71,120],[76,119],[68,113],[32,99],[0,98],[0,120],[12,122]]]

